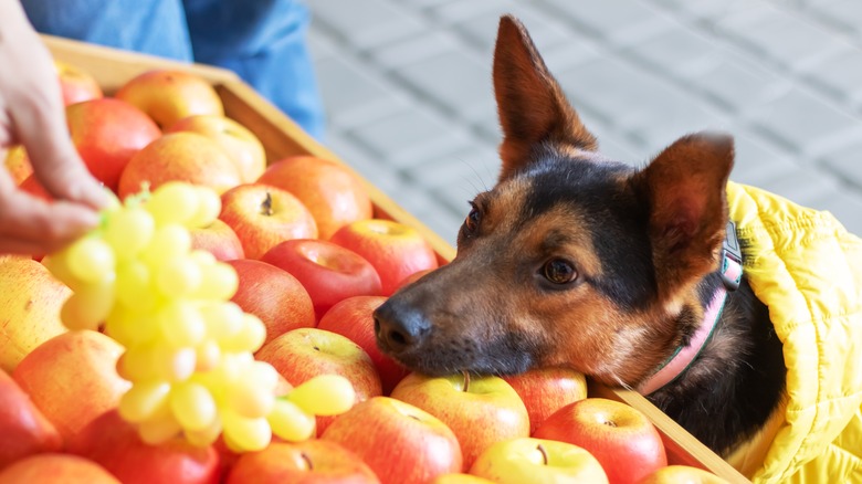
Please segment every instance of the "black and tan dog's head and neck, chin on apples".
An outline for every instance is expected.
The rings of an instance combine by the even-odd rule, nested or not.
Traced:
[[[728,453],[785,390],[767,308],[727,270],[733,139],[688,135],[642,169],[603,157],[513,17],[493,80],[497,185],[471,202],[456,257],[377,309],[378,345],[427,375],[567,366]]]

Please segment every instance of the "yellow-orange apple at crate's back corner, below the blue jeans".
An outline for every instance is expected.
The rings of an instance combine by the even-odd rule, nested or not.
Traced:
[[[224,115],[221,98],[206,80],[176,70],[139,74],[127,81],[115,97],[134,104],[161,128],[196,114]]]

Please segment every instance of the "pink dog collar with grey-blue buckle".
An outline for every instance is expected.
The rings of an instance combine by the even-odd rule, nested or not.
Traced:
[[[739,283],[743,280],[743,256],[734,222],[727,223],[727,235],[722,244],[721,274],[724,284],[715,291],[713,298],[704,311],[703,322],[694,335],[692,335],[688,345],[676,348],[676,351],[638,387],[638,391],[641,394],[650,394],[685,372],[709,340],[715,325],[722,317],[724,304],[727,301],[727,293],[739,288]]]

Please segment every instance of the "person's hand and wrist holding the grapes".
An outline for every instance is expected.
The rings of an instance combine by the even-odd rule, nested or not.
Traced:
[[[0,253],[50,253],[95,227],[107,197],[69,137],[51,55],[18,0],[0,0],[0,160],[15,144],[56,201],[19,190],[0,168]]]

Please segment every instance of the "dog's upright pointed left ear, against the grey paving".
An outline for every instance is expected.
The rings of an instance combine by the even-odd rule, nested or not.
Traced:
[[[512,15],[500,19],[494,94],[503,128],[501,180],[523,168],[529,161],[530,149],[540,143],[596,150],[596,138],[548,72],[526,28]]]

